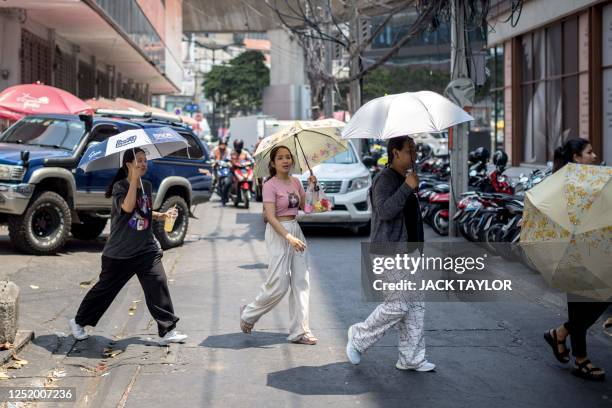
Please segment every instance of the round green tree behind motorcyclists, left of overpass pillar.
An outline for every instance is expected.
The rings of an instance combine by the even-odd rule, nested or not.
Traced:
[[[264,61],[261,52],[246,51],[229,65],[215,65],[204,77],[204,94],[230,115],[256,113],[261,108],[263,89],[270,83],[270,70]]]

